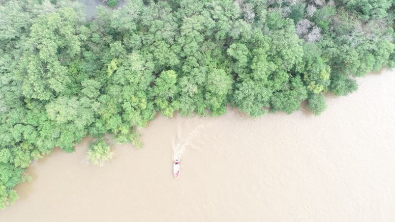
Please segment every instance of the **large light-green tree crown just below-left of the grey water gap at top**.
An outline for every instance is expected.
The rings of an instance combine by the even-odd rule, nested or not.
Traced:
[[[85,38],[79,34],[77,13],[72,8],[61,8],[38,16],[30,30],[19,68],[24,95],[50,100],[70,93],[72,82],[66,64],[81,53],[81,39]]]

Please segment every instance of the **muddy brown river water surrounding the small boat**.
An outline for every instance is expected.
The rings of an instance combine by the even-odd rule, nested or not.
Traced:
[[[358,82],[317,117],[159,117],[140,130],[144,149],[117,145],[104,167],[86,162],[89,139],[56,150],[0,221],[392,222],[395,72]]]

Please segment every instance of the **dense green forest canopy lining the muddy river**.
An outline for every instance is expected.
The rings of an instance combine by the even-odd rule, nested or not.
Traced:
[[[128,0],[87,22],[69,0],[1,0],[0,208],[32,160],[90,135],[141,146],[157,112],[291,113],[395,65],[393,0]],[[116,3],[108,0],[107,3]]]

